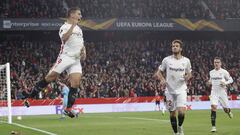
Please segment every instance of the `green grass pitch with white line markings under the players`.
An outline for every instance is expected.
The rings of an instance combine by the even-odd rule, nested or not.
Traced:
[[[210,110],[187,111],[185,135],[240,135],[240,110],[233,110],[229,119],[223,110],[217,111],[217,133],[210,133]],[[78,118],[60,120],[60,115],[13,117],[15,123],[48,131],[57,135],[172,135],[169,114],[160,112],[122,112],[81,114]],[[0,123],[0,135],[44,135],[44,133]],[[46,134],[47,135],[47,134]]]

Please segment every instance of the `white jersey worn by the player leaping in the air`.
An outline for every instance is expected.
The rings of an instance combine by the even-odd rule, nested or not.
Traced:
[[[62,40],[63,34],[65,34],[70,29],[71,26],[72,24],[65,22],[65,24],[63,24],[60,27],[59,36],[61,40]],[[73,33],[69,37],[69,39],[65,43],[62,41],[60,53],[66,54],[71,57],[80,58],[80,50],[84,46],[83,43],[84,42],[83,42],[82,29],[78,25],[76,25],[73,28]]]

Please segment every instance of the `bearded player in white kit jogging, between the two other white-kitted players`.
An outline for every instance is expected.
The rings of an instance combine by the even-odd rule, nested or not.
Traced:
[[[167,109],[170,112],[170,121],[174,135],[184,135],[183,121],[187,103],[187,84],[186,82],[191,78],[191,63],[190,60],[182,56],[181,40],[174,40],[172,42],[172,53],[165,57],[158,71],[154,74],[155,78],[160,80],[160,84],[166,86],[165,96]],[[166,79],[163,76],[166,72]],[[177,115],[178,112],[178,123]]]

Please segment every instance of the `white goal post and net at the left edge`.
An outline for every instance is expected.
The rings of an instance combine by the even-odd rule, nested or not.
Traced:
[[[0,65],[0,121],[12,123],[10,64]]]

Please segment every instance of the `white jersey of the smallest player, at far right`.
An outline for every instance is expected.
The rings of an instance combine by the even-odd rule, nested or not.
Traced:
[[[225,87],[220,85],[221,81],[225,82],[226,84],[230,84],[233,82],[232,77],[228,73],[227,70],[220,68],[219,70],[213,69],[209,73],[210,81],[212,83],[212,90],[225,90]]]

